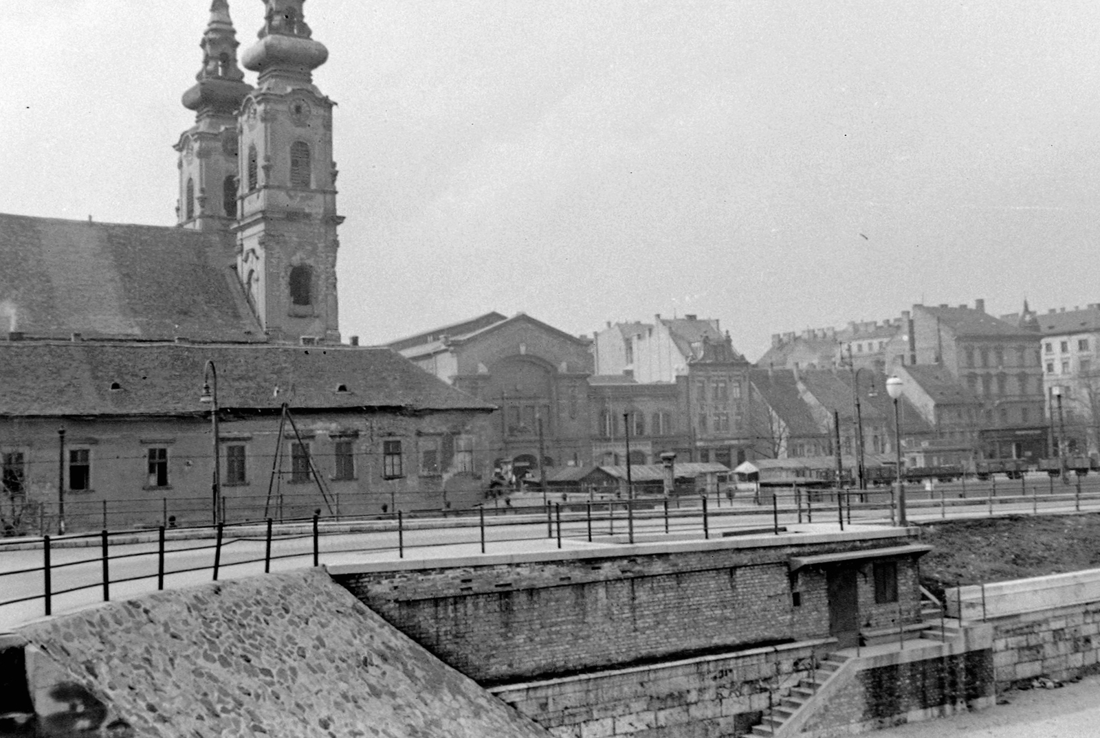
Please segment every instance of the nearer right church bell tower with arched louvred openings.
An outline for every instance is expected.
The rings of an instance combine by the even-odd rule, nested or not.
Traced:
[[[242,58],[260,77],[238,120],[238,271],[272,340],[339,343],[334,103],[312,82],[328,49],[310,37],[304,2],[264,0]]]

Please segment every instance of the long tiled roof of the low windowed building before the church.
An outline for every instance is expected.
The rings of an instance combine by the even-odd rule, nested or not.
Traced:
[[[201,412],[207,360],[227,409],[494,407],[388,349],[0,341],[0,416]]]

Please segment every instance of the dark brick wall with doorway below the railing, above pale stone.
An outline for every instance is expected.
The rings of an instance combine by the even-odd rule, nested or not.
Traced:
[[[586,551],[551,561],[338,572],[336,579],[447,663],[483,683],[505,683],[827,637],[824,572],[800,572],[795,606],[790,557],[899,542],[905,539],[619,557]],[[913,561],[899,562],[908,623],[920,618],[910,569]],[[861,602],[873,601],[872,577],[858,577],[858,587]],[[897,617],[897,605],[868,607],[872,625]]]

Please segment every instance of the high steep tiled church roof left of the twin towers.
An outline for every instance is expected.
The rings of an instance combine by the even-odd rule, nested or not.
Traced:
[[[0,214],[0,332],[262,342],[233,238]]]

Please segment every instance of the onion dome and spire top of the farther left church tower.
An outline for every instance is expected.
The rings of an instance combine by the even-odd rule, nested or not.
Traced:
[[[213,0],[210,23],[199,47],[202,49],[202,68],[195,75],[198,84],[184,92],[184,107],[199,113],[210,111],[233,113],[241,100],[252,91],[244,73],[237,66],[237,31],[229,19],[227,0]]]

